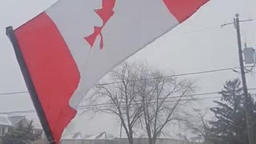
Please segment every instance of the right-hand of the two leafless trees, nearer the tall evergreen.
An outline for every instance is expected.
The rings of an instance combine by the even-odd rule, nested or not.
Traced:
[[[139,96],[142,98],[142,125],[146,127],[148,141],[155,144],[162,130],[173,121],[181,121],[182,109],[187,97],[194,91],[192,82],[175,77],[164,77],[159,70],[147,70],[140,82]],[[191,100],[191,98],[190,98]]]

